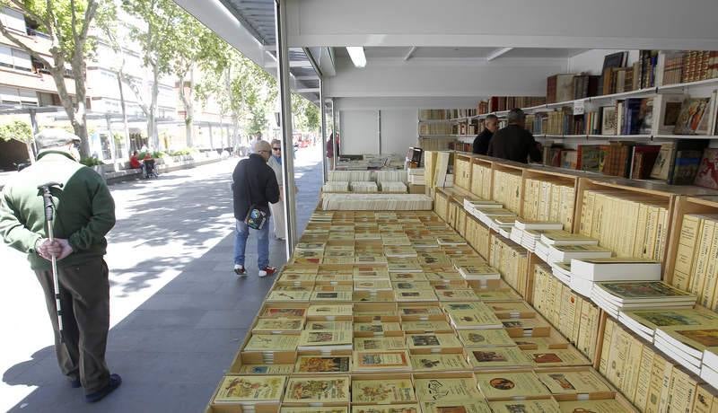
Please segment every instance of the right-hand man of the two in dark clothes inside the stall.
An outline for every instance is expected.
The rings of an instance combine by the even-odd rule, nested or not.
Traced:
[[[530,156],[531,161],[541,162],[541,151],[536,140],[528,130],[524,129],[526,115],[523,110],[512,109],[508,121],[509,126],[500,129],[491,138],[486,154],[520,163],[527,163],[527,158]]]

